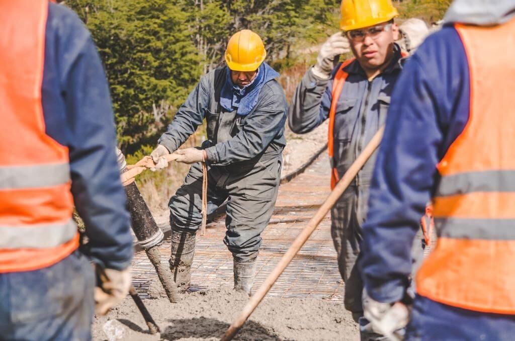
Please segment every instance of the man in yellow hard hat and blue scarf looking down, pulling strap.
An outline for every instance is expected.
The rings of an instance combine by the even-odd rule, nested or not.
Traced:
[[[208,209],[227,200],[225,244],[234,258],[234,287],[250,293],[261,233],[270,220],[286,144],[286,99],[279,74],[265,63],[261,38],[250,30],[231,37],[226,67],[200,79],[152,151],[156,168],[176,151],[179,162],[193,164],[184,184],[170,199],[170,267],[182,289],[190,286],[195,233],[201,225],[202,167],[208,168]],[[179,149],[203,120],[201,147]]]

